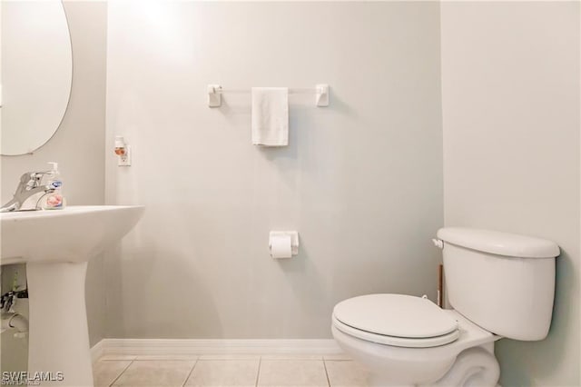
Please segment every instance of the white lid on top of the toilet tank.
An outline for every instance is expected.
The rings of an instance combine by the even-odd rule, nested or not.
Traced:
[[[560,254],[559,246],[547,239],[500,233],[468,227],[444,227],[438,230],[438,238],[484,253],[518,258],[553,258]]]

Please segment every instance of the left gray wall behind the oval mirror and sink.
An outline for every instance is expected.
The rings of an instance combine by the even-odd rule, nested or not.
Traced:
[[[73,87],[64,120],[34,154],[2,156],[2,203],[12,198],[20,175],[56,161],[69,204],[104,203],[104,118],[107,5],[65,2],[73,43]],[[42,60],[42,58],[39,58]],[[103,259],[89,263],[86,281],[91,343],[104,337]]]

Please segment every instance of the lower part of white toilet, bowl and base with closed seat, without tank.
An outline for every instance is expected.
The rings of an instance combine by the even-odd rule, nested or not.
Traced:
[[[427,299],[368,294],[346,300],[333,311],[331,332],[344,352],[369,369],[372,385],[451,386],[469,378],[497,384],[493,342],[500,337]]]

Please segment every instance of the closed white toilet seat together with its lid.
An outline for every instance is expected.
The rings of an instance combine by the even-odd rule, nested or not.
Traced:
[[[359,339],[408,348],[458,339],[458,321],[428,299],[405,294],[368,294],[338,303],[333,325]]]

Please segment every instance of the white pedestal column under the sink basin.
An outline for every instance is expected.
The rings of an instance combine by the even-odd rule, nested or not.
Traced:
[[[62,372],[43,386],[93,386],[84,303],[87,261],[26,263],[30,305],[28,372]]]

